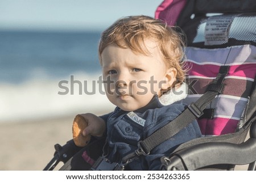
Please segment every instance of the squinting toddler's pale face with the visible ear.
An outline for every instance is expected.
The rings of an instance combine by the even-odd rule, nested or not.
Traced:
[[[166,69],[154,41],[145,41],[151,56],[131,49],[107,46],[101,54],[102,76],[108,99],[124,111],[135,111],[160,95],[175,81],[176,70]]]

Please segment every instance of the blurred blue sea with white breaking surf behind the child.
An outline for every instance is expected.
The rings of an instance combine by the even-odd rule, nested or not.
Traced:
[[[0,122],[113,109],[97,82],[100,33],[0,31]]]

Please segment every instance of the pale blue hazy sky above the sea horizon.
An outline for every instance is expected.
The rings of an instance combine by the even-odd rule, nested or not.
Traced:
[[[162,1],[1,0],[0,29],[101,31],[123,16],[154,16]]]

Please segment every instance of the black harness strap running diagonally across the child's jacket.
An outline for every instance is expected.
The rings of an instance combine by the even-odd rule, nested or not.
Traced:
[[[188,126],[195,118],[204,114],[203,110],[212,102],[212,100],[221,94],[224,88],[224,78],[228,74],[229,66],[221,66],[220,71],[212,83],[207,87],[207,91],[195,103],[188,105],[179,116],[169,122],[167,125],[156,130],[151,136],[138,143],[138,149],[135,151],[137,156],[148,155],[152,149],[160,143],[177,134],[181,129]],[[130,155],[130,154],[129,154]],[[132,155],[130,155],[132,156]],[[133,155],[135,156],[135,155]],[[128,155],[123,158],[123,163],[130,160]]]

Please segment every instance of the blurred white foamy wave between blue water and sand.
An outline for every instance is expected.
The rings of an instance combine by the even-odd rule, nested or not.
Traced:
[[[82,83],[82,94],[79,93],[79,84],[74,83],[74,93],[71,95],[71,77],[54,80],[34,77],[21,84],[0,83],[0,122],[38,120],[114,109],[114,105],[99,90],[97,80],[100,74],[75,73],[73,75],[76,81]],[[69,88],[69,92],[65,95],[58,94],[65,91],[59,87],[61,80],[69,82],[69,84],[63,84]],[[84,81],[87,82],[87,91],[94,89],[95,94],[84,93]],[[96,81],[95,88],[93,88],[93,81]]]

